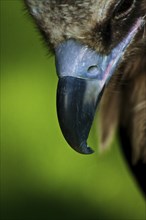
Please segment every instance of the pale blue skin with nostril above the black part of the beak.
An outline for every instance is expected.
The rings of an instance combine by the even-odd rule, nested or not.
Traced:
[[[143,19],[139,18],[123,41],[108,55],[97,53],[74,39],[59,44],[55,50],[58,76],[97,79],[99,83],[102,81],[105,83],[113,75],[125,50],[143,23]],[[104,83],[102,82],[101,84],[103,85]]]

